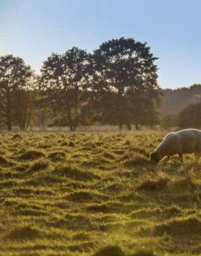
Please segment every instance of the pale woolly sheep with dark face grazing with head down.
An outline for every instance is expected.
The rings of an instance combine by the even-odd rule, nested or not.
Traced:
[[[167,156],[179,154],[181,163],[183,162],[182,154],[195,154],[195,159],[200,157],[201,152],[201,131],[197,129],[186,129],[179,132],[171,132],[165,136],[160,145],[150,154],[150,158],[155,161],[161,161]]]

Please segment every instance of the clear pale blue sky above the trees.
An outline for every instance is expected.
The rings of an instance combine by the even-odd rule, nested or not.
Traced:
[[[200,0],[0,0],[0,56],[40,74],[52,52],[93,52],[112,38],[147,42],[162,88],[201,83]]]

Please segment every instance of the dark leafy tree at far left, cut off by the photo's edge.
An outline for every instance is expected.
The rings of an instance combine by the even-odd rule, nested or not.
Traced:
[[[11,54],[0,57],[0,119],[11,131],[16,118],[15,93],[23,90],[32,71],[29,65]]]

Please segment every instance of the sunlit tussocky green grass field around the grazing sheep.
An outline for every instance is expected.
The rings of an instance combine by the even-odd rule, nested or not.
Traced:
[[[163,132],[0,134],[0,255],[201,255],[201,162]]]

